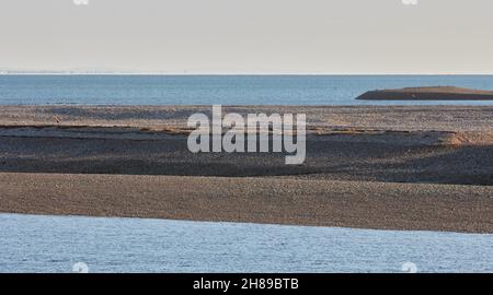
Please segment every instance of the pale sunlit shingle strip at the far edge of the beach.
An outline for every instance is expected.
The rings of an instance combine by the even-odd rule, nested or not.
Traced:
[[[211,106],[0,106],[0,126],[185,127]],[[493,106],[223,106],[223,113],[307,114],[313,127],[492,131]]]

